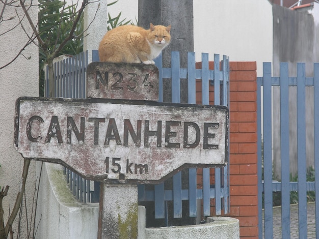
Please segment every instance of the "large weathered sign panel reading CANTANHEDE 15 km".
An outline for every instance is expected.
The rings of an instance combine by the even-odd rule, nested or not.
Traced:
[[[227,163],[228,109],[151,101],[21,97],[15,147],[91,180],[162,182],[183,167]]]

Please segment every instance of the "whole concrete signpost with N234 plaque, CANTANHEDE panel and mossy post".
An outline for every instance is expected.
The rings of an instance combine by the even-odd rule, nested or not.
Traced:
[[[87,87],[91,99],[18,98],[14,146],[102,181],[98,238],[138,238],[137,184],[224,166],[228,109],[155,102],[154,66],[92,63]]]

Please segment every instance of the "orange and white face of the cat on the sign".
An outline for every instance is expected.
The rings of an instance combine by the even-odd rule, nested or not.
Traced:
[[[156,25],[154,26],[152,23],[150,24],[150,32],[148,34],[148,41],[155,46],[165,47],[171,41],[171,25],[162,26]]]

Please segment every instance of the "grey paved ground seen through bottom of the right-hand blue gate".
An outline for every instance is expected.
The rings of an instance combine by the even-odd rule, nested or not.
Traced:
[[[274,239],[281,239],[281,207],[275,207],[274,214]],[[313,202],[307,204],[307,232],[308,239],[315,239],[315,204]],[[264,238],[264,234],[263,234]],[[298,205],[290,206],[290,238],[298,239]],[[284,239],[284,238],[283,238]]]

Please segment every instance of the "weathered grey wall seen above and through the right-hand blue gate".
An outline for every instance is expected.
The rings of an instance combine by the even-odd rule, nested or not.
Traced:
[[[279,63],[287,62],[289,76],[297,76],[297,63],[304,62],[306,76],[313,76],[313,63],[319,61],[319,4],[291,11],[273,6],[274,56],[273,76],[279,76]],[[273,112],[280,112],[279,87],[273,87]],[[290,172],[297,173],[297,89],[289,88],[289,157]],[[280,118],[273,114],[273,160],[275,177],[280,178]],[[306,162],[314,165],[313,89],[306,87]]]

